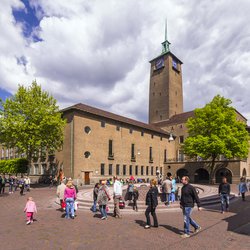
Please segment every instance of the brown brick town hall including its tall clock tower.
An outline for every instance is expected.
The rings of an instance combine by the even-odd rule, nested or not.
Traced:
[[[85,104],[61,110],[67,123],[64,144],[55,155],[33,162],[31,176],[55,175],[63,169],[78,184],[93,184],[114,175],[149,180],[160,172],[165,176],[188,175],[192,182],[208,183],[209,161],[189,159],[182,145],[188,136],[186,122],[194,111],[183,112],[182,61],[170,51],[166,39],[162,52],[150,61],[149,123],[143,123]],[[237,119],[247,119],[236,111]],[[13,158],[11,149],[1,149],[1,159]],[[214,183],[222,176],[237,183],[250,178],[247,159],[216,161]]]

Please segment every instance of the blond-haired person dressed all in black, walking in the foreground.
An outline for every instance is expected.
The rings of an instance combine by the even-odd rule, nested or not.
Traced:
[[[146,195],[146,205],[148,207],[145,211],[145,216],[147,219],[147,224],[144,227],[145,229],[148,229],[151,227],[150,216],[149,216],[150,213],[153,216],[154,227],[158,227],[158,220],[157,220],[157,216],[155,213],[156,207],[158,205],[158,188],[156,187],[156,185],[157,185],[157,181],[155,179],[151,180],[150,188]]]

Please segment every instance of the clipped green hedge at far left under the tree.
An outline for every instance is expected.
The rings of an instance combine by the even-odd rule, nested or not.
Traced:
[[[26,173],[28,160],[24,158],[0,161],[0,173],[17,174]]]

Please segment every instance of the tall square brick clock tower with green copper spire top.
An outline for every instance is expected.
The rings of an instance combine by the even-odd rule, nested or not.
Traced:
[[[167,120],[183,112],[182,62],[162,43],[162,53],[150,61],[149,123]]]

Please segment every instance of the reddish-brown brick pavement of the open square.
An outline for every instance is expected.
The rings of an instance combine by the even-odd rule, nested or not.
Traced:
[[[235,187],[233,187],[235,189]],[[0,249],[250,249],[250,196],[237,198],[230,212],[219,206],[195,210],[202,231],[181,239],[181,211],[158,214],[159,228],[145,230],[144,214],[124,214],[122,219],[100,220],[99,214],[77,211],[75,220],[63,218],[55,208],[55,188],[34,188],[0,196]],[[23,208],[28,196],[38,207],[37,221],[27,226]]]

